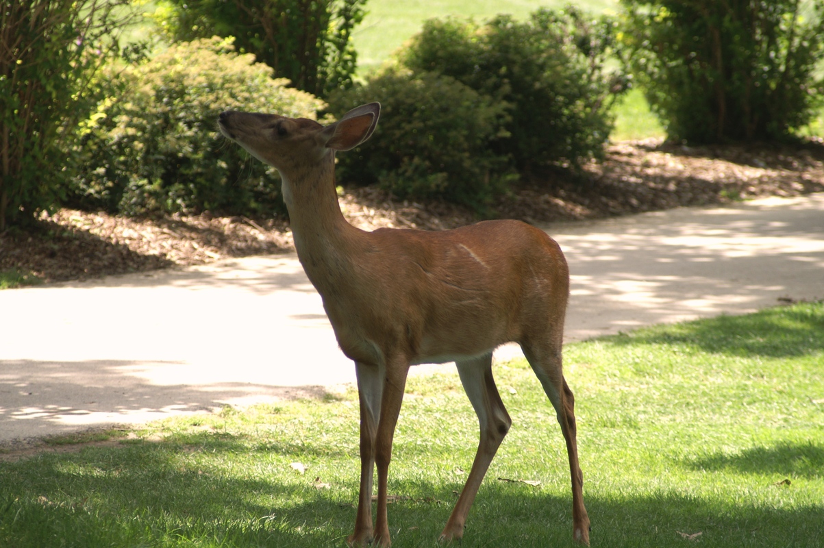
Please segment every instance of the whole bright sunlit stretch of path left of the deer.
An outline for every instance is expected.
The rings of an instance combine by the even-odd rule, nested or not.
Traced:
[[[0,299],[15,311],[0,316],[0,441],[354,381],[321,297],[283,256],[24,288]]]

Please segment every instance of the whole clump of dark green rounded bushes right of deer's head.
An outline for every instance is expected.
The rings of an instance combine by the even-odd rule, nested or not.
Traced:
[[[427,21],[400,54],[401,68],[330,97],[335,115],[383,105],[375,138],[341,155],[341,175],[483,211],[517,170],[601,157],[624,88],[623,76],[606,70],[614,27],[574,7],[541,9],[524,23]]]

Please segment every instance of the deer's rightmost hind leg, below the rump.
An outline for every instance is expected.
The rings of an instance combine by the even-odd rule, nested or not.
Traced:
[[[551,337],[540,343],[522,343],[524,355],[541,381],[546,396],[555,408],[555,415],[564,434],[569,456],[569,472],[572,476],[573,538],[589,545],[589,518],[583,505],[583,474],[578,464],[578,441],[575,426],[575,398],[564,379],[561,364],[561,337]]]

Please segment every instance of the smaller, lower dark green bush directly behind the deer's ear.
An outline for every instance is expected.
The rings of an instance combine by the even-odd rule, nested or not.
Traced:
[[[434,73],[396,67],[330,96],[337,117],[380,101],[381,121],[361,147],[339,155],[345,183],[377,183],[399,198],[437,197],[483,211],[513,176],[489,143],[505,136],[505,105]]]

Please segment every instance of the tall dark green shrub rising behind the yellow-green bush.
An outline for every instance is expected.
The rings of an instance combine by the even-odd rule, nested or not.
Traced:
[[[352,85],[356,53],[349,39],[366,0],[168,0],[160,19],[173,40],[234,36],[298,89],[317,96]]]

